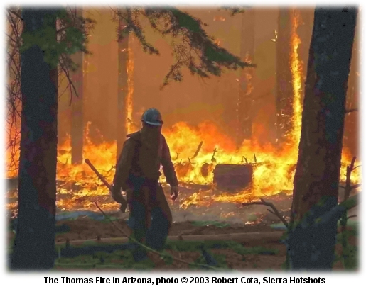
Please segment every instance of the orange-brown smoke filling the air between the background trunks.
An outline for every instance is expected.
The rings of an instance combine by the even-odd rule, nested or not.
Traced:
[[[95,132],[97,129],[100,130],[105,140],[112,141],[116,139],[117,133],[118,54],[115,33],[117,24],[112,21],[108,9],[98,9],[98,12],[90,15],[95,18],[97,24],[90,37],[89,49],[92,55],[85,58],[87,69],[84,78],[84,120],[85,125],[88,121],[92,123],[90,135],[93,141],[99,140],[98,133]],[[240,31],[237,24],[240,22],[240,16],[230,17],[227,11],[217,11],[217,9],[210,9],[210,13],[207,9],[195,9],[190,13],[208,23],[208,33],[220,38],[222,47],[239,55],[237,35]],[[222,16],[225,21],[214,21],[215,16]],[[275,18],[273,20],[275,21]],[[259,49],[259,53],[266,54],[268,48],[273,50],[273,45],[270,44],[271,46],[267,47],[267,40],[267,44],[262,45],[262,39],[270,39],[269,35],[268,37],[266,35],[272,33],[268,25],[264,26],[259,23],[256,29],[259,34],[258,45],[264,47],[264,50]],[[166,127],[182,121],[190,125],[199,125],[199,123],[209,120],[218,125],[222,132],[226,131],[227,134],[235,135],[232,127],[234,118],[232,111],[237,103],[239,92],[239,85],[235,80],[237,72],[226,71],[220,78],[200,79],[193,77],[188,70],[183,70],[183,82],[171,83],[161,91],[159,89],[161,83],[174,61],[171,55],[170,39],[159,38],[147,26],[145,32],[146,40],[153,43],[161,55],[152,56],[144,53],[138,41],[134,41],[131,45],[131,49],[134,51],[134,111],[131,120],[139,125],[141,111],[155,107],[161,110]],[[269,64],[270,55],[271,52],[263,59],[260,55],[256,55],[258,69],[255,77],[259,81],[254,83],[256,84],[254,90],[261,85],[267,86],[266,89],[273,88],[274,82],[268,79],[269,74],[271,77],[274,75],[274,67]],[[261,89],[258,89],[258,93],[262,93]],[[60,101],[60,140],[65,139],[66,133],[70,133],[69,101],[69,91],[65,91],[63,99]],[[262,119],[259,120],[262,123]],[[267,122],[271,122],[271,120],[267,120]],[[265,128],[271,127],[265,125]]]

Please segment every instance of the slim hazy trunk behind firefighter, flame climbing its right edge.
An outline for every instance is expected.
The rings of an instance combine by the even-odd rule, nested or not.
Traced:
[[[126,25],[122,18],[119,18],[119,31]],[[127,67],[129,64],[129,35],[121,38],[118,35],[118,98],[117,98],[117,159],[122,151],[122,146],[127,134],[127,96],[129,94]]]

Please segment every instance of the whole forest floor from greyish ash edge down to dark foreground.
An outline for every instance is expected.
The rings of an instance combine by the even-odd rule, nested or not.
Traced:
[[[288,217],[291,196],[276,195],[268,200],[274,202],[276,208]],[[238,203],[215,203],[211,206],[193,205],[182,209],[177,204],[171,204],[171,210],[173,225],[163,252],[165,257],[149,252],[149,258],[139,263],[134,261],[130,250],[119,248],[127,243],[128,213],[109,210],[109,219],[104,220],[95,220],[87,216],[58,220],[56,244],[59,251],[65,249],[68,242],[72,248],[108,246],[109,252],[98,249],[99,252],[73,258],[61,256],[56,259],[55,269],[202,269],[197,266],[207,264],[202,246],[211,254],[218,268],[243,271],[282,269],[286,260],[286,246],[280,239],[285,230],[281,227],[280,220],[267,211],[266,206],[242,207]],[[352,211],[351,214],[353,213],[355,212]],[[224,218],[222,214],[225,214]],[[350,222],[355,223],[354,220]],[[349,242],[352,247],[357,248],[357,225],[352,226],[348,227]],[[14,238],[13,232],[9,232],[8,235],[9,240]],[[340,244],[336,245],[336,254],[342,254]],[[355,267],[352,269],[357,269],[357,262],[353,265]],[[335,262],[333,269],[344,269],[340,260]]]

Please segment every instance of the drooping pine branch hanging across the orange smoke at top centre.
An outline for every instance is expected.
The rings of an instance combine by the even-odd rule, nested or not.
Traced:
[[[188,68],[191,74],[202,78],[208,78],[210,75],[220,77],[224,68],[235,70],[256,67],[255,64],[242,62],[239,57],[215,44],[213,38],[208,36],[203,29],[203,26],[206,26],[205,23],[179,9],[173,7],[128,8],[123,9],[123,11],[119,9],[112,9],[112,11],[114,21],[125,23],[125,26],[118,30],[118,38],[123,38],[130,32],[134,33],[144,52],[159,55],[158,50],[146,42],[139,16],[144,16],[149,21],[151,28],[161,37],[171,36],[175,62],[163,79],[161,89],[167,86],[171,80],[182,81],[181,69],[183,67]]]

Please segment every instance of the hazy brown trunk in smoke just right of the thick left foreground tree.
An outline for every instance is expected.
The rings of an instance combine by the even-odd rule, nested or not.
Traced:
[[[76,9],[75,15],[82,16],[82,9]],[[77,64],[77,69],[72,72],[72,83],[75,86],[77,94],[73,89],[72,103],[71,103],[71,163],[82,164],[82,150],[83,150],[83,135],[84,135],[84,121],[83,121],[83,72],[82,72],[82,52],[76,52],[71,55],[72,61]]]

